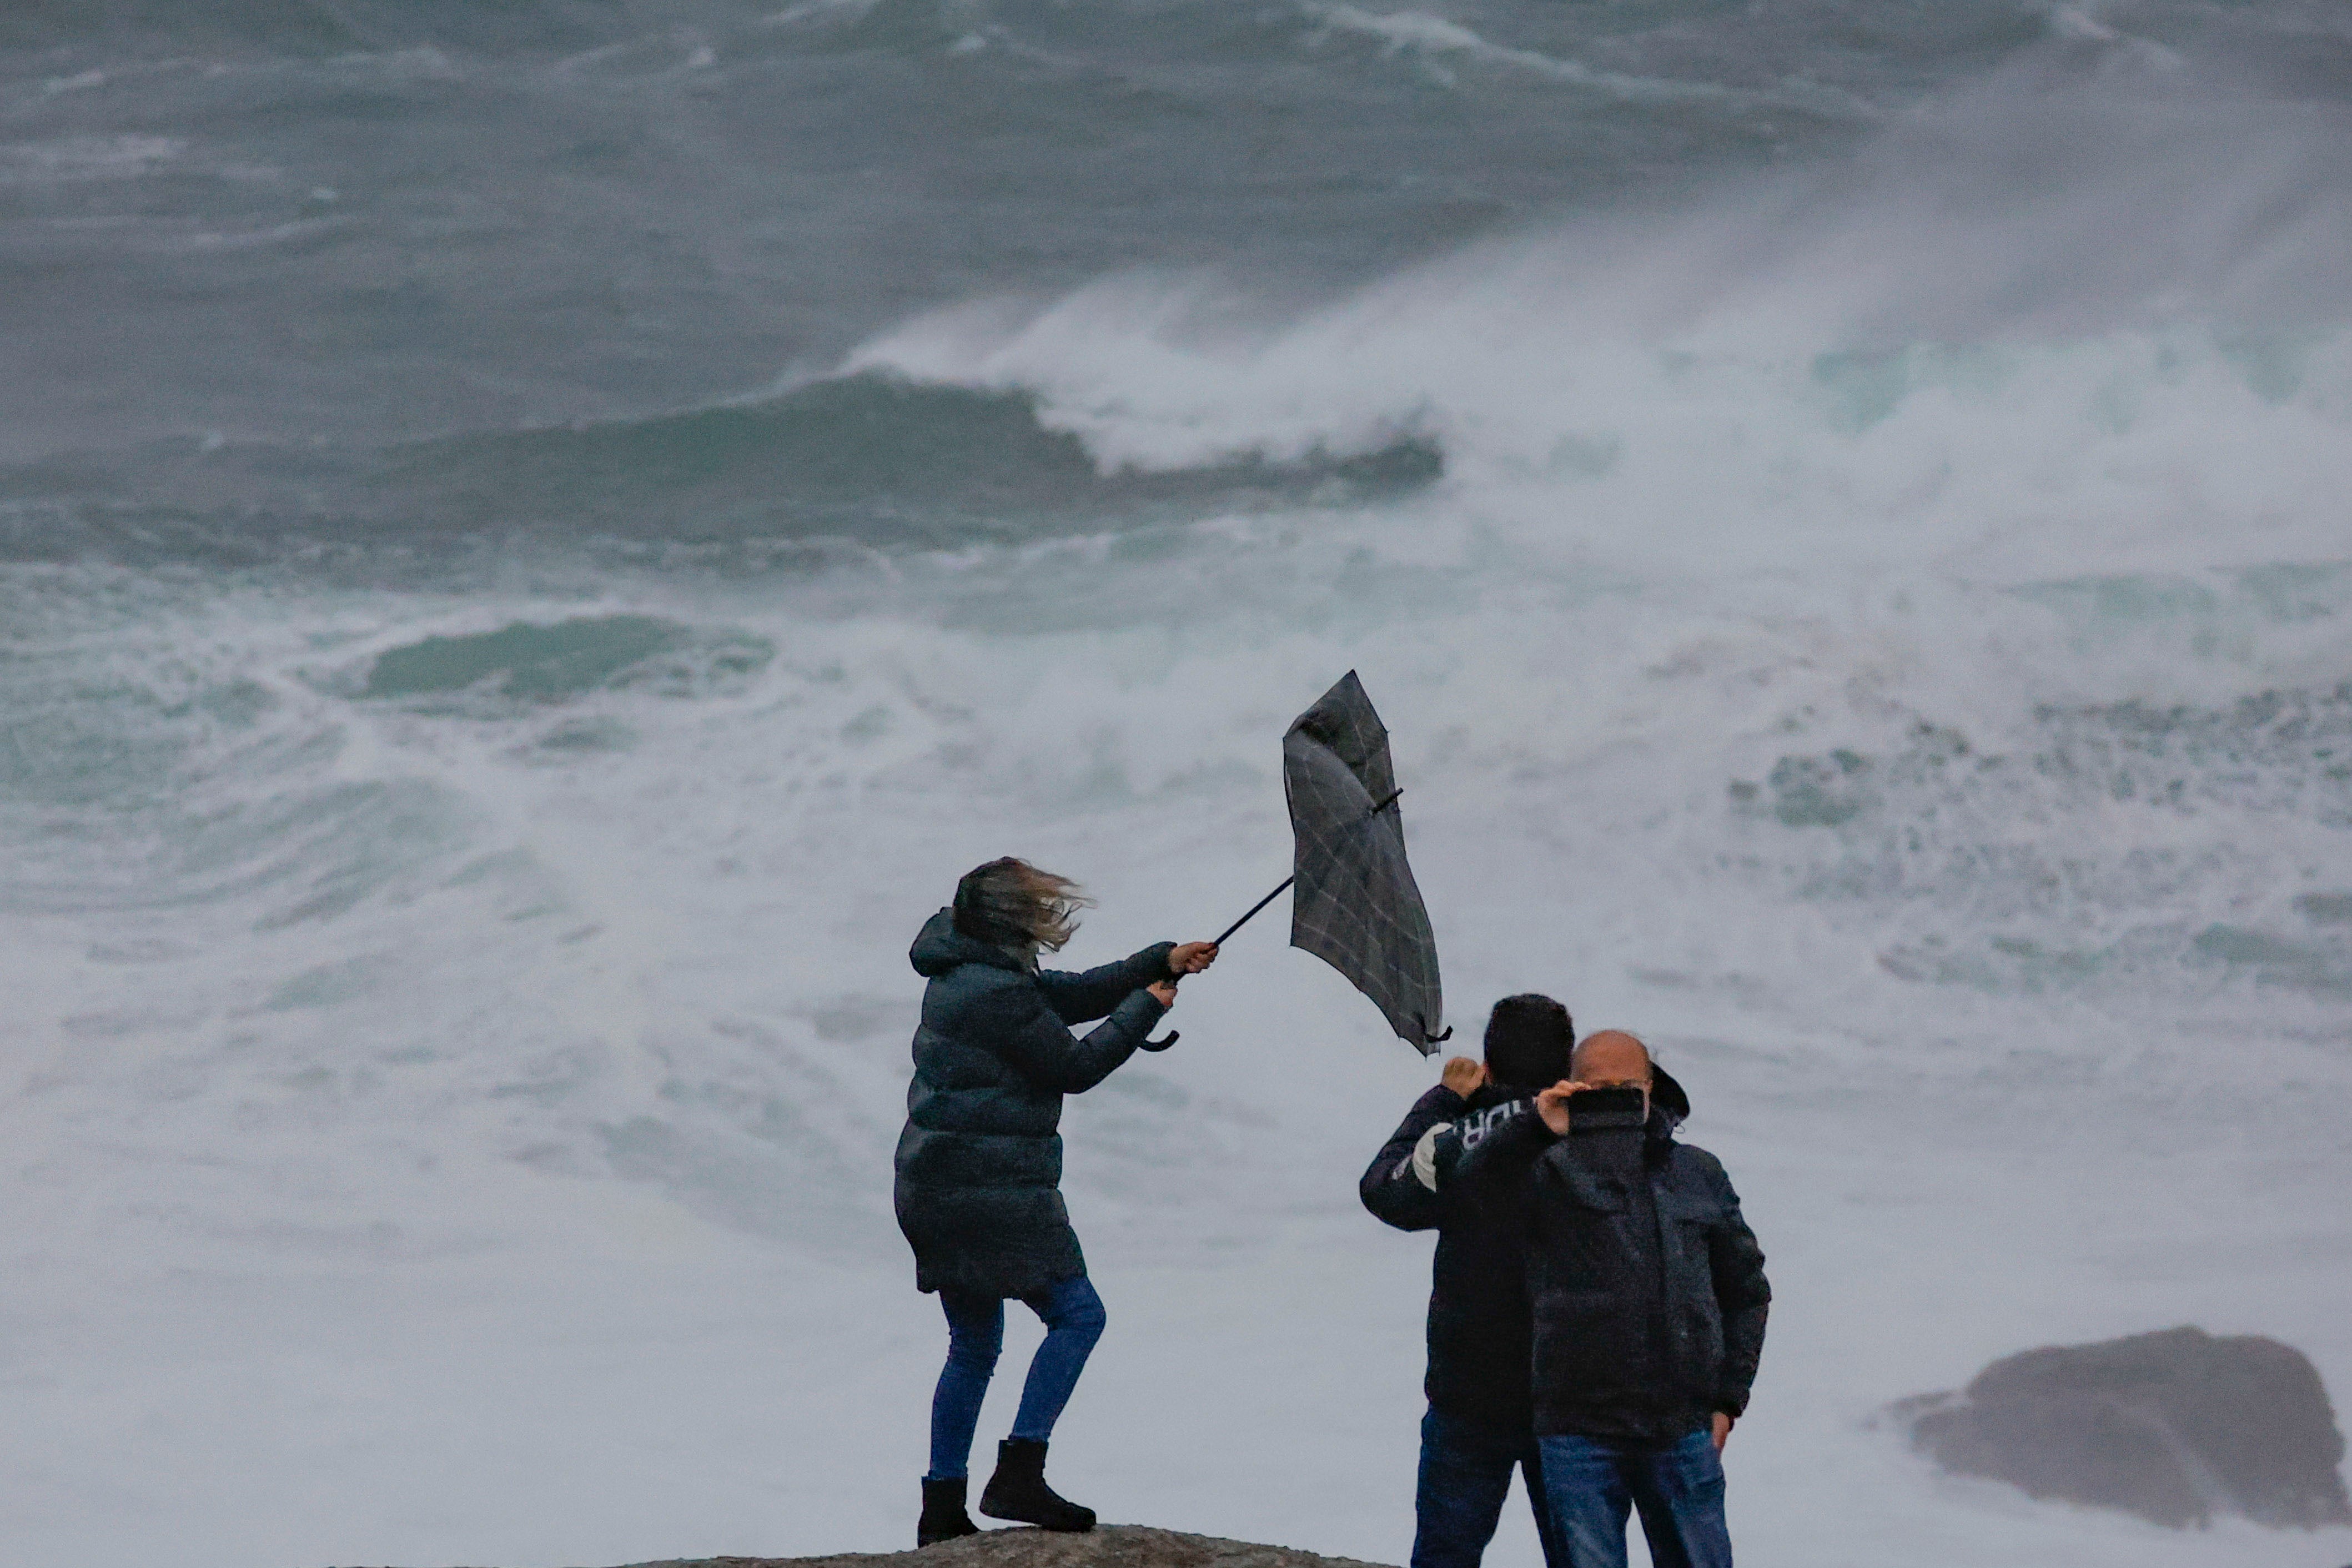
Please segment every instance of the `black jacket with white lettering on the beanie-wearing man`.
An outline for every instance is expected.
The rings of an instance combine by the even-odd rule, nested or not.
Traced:
[[[1501,1194],[1482,1206],[1451,1199],[1451,1171],[1510,1117],[1534,1114],[1517,1091],[1486,1084],[1461,1098],[1444,1084],[1421,1095],[1357,1182],[1376,1218],[1397,1229],[1435,1229],[1430,1265],[1430,1406],[1463,1420],[1524,1432],[1534,1413],[1526,1366],[1524,1220],[1505,1218]],[[1435,1138],[1428,1138],[1439,1128]],[[1423,1147],[1428,1138],[1428,1147]],[[1416,1161],[1418,1152],[1418,1161]]]

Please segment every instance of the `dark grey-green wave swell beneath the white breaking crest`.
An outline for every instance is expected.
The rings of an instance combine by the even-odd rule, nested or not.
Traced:
[[[0,470],[14,559],[301,559],[482,541],[1018,543],[1265,505],[1411,494],[1444,454],[1406,428],[1352,447],[1103,463],[1011,388],[880,374],[779,397],[374,451],[155,444]]]

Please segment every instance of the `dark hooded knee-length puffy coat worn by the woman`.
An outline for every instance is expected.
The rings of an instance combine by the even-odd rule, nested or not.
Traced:
[[[1035,1295],[1087,1272],[1061,1201],[1061,1098],[1110,1077],[1160,1023],[1143,987],[1169,978],[1169,947],[1070,976],[964,936],[948,910],[922,926],[908,959],[931,985],[896,1161],[917,1291]]]

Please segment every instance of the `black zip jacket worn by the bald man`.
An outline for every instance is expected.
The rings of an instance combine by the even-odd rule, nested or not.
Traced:
[[[1651,1112],[1512,1117],[1463,1157],[1461,1201],[1524,1215],[1538,1436],[1672,1443],[1738,1415],[1771,1286],[1724,1166]]]

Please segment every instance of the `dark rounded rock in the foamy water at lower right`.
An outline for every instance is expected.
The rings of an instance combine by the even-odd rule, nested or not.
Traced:
[[[1962,1476],[2176,1528],[2216,1514],[2352,1523],[2326,1387],[2256,1335],[2166,1328],[1994,1361],[1959,1394],[1905,1399],[1912,1443]]]

